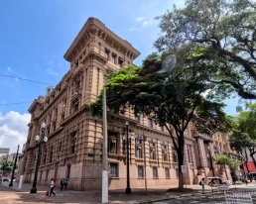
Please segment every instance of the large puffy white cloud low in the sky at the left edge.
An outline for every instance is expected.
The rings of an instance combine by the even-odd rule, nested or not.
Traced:
[[[0,112],[0,147],[10,148],[10,153],[15,153],[17,146],[20,145],[22,150],[23,144],[27,141],[30,118],[31,115],[27,113]]]

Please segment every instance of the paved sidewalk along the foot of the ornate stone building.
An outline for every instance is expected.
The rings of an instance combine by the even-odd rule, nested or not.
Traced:
[[[9,182],[4,182],[2,185],[9,187]],[[12,188],[20,191],[22,194],[30,194],[30,189],[32,188],[32,184],[24,183],[21,190],[18,189],[18,183],[14,182],[14,186]],[[250,184],[255,185],[255,184]],[[240,185],[240,187],[244,187],[245,185]],[[68,187],[68,186],[67,186]],[[189,197],[201,195],[201,186],[199,185],[188,185],[188,188],[192,188],[192,192],[168,192],[169,188],[176,188],[177,186],[170,187],[151,187],[148,189],[148,194],[146,195],[144,188],[133,188],[132,194],[127,195],[123,190],[109,190],[109,203],[151,203],[153,201],[164,201],[172,198],[179,197]],[[235,186],[232,186],[235,187]],[[60,188],[56,188],[56,196],[47,197],[46,191],[50,190],[48,186],[39,185],[38,193],[30,194],[31,196],[40,199],[40,202],[46,203],[90,203],[96,204],[101,201],[101,191],[73,191],[73,190],[63,190]],[[210,193],[211,188],[209,186],[205,186],[205,192]]]

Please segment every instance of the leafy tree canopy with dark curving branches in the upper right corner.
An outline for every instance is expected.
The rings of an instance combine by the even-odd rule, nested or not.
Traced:
[[[208,81],[244,99],[256,99],[256,3],[253,0],[188,0],[158,17],[159,51],[190,46]]]

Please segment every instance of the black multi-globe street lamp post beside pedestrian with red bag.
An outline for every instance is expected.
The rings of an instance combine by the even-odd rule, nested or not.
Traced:
[[[30,193],[37,193],[37,180],[38,180],[38,171],[39,171],[39,165],[41,160],[41,152],[42,152],[42,144],[48,142],[48,138],[45,136],[45,129],[46,124],[42,123],[41,125],[41,138],[39,136],[36,136],[36,143],[39,146],[39,153],[38,153],[38,159],[37,159],[37,165],[36,165],[36,172],[34,176],[34,182],[33,186],[30,190]]]

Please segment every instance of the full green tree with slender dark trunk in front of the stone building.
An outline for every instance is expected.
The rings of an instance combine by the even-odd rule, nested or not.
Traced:
[[[179,188],[183,188],[181,166],[184,164],[185,131],[188,125],[192,121],[197,122],[195,127],[205,134],[228,132],[231,126],[222,111],[223,104],[202,96],[202,93],[212,88],[209,83],[205,83],[203,74],[185,68],[179,58],[172,74],[159,71],[164,56],[153,53],[143,61],[142,67],[128,66],[112,72],[105,84],[106,102],[111,114],[133,109],[135,115],[143,114],[166,127],[178,153]],[[90,104],[91,114],[100,116],[101,107],[102,95]],[[205,123],[204,126],[199,124],[199,121],[208,120],[211,123]]]

